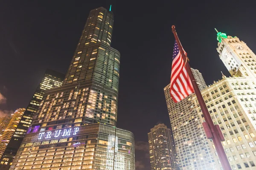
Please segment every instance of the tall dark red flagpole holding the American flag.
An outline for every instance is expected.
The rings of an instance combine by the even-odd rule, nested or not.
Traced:
[[[227,159],[227,156],[226,156],[226,153],[224,151],[224,148],[221,144],[221,140],[223,141],[224,140],[224,137],[223,137],[223,134],[221,133],[221,130],[219,128],[219,126],[217,125],[214,125],[213,122],[212,122],[212,118],[209,114],[209,111],[207,109],[207,106],[204,102],[204,98],[201,94],[201,91],[199,90],[198,88],[198,85],[195,81],[195,77],[194,75],[192,74],[192,71],[191,71],[191,68],[190,68],[190,65],[189,65],[189,62],[186,62],[187,61],[187,57],[186,55],[184,54],[184,51],[182,50],[182,46],[180,44],[180,40],[177,36],[177,33],[176,33],[176,30],[175,30],[175,26],[172,26],[172,33],[174,34],[174,37],[175,37],[175,40],[177,42],[177,45],[180,49],[180,54],[184,60],[184,62],[186,63],[185,67],[186,67],[186,71],[188,72],[189,74],[189,78],[191,80],[191,83],[193,85],[193,88],[194,88],[194,91],[195,91],[195,95],[198,99],[198,102],[199,102],[199,105],[201,107],[201,110],[203,112],[203,115],[204,115],[204,119],[205,119],[205,122],[206,123],[203,123],[203,126],[204,126],[204,130],[206,132],[206,136],[208,139],[212,139],[214,145],[215,145],[215,148],[217,150],[217,153],[218,153],[218,157],[221,161],[221,165],[223,167],[224,170],[231,170],[231,167],[230,167],[230,164],[229,164],[229,161]],[[208,131],[207,131],[208,129]]]

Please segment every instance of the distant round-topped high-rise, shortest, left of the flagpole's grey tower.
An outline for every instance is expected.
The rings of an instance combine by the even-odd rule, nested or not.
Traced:
[[[180,170],[172,130],[160,123],[148,133],[151,170]]]

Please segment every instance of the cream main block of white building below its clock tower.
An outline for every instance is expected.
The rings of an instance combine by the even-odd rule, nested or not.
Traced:
[[[255,89],[255,78],[229,77],[201,92],[214,124],[221,127],[225,138],[222,144],[233,170],[256,169]],[[192,101],[202,126],[204,116],[196,96],[192,96]],[[212,140],[207,140],[214,153],[216,166],[221,169],[214,144]]]

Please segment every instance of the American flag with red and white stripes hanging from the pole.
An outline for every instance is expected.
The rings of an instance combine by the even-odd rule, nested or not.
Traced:
[[[183,50],[184,51],[184,50]],[[186,52],[184,51],[186,54]],[[172,75],[170,93],[175,103],[194,93],[189,74],[175,40],[172,57]]]

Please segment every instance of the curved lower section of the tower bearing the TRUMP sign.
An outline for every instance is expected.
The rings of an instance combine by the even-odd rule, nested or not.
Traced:
[[[11,169],[135,170],[133,148],[133,134],[110,125],[29,133]]]

